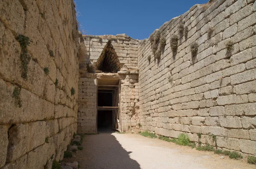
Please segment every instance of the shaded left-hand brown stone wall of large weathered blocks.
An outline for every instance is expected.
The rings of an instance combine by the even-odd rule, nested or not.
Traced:
[[[0,1],[1,169],[63,158],[77,130],[77,35],[73,0]]]

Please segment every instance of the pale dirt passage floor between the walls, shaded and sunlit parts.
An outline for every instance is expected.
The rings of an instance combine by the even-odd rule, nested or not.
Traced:
[[[138,134],[86,135],[83,150],[74,153],[80,169],[254,169],[245,160],[178,146]]]

